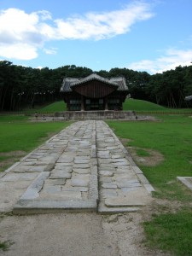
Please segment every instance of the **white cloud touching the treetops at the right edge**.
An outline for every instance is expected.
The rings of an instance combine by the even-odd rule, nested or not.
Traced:
[[[192,61],[192,49],[167,49],[164,56],[154,61],[142,60],[131,63],[127,68],[148,73],[163,73],[178,66],[189,66]]]

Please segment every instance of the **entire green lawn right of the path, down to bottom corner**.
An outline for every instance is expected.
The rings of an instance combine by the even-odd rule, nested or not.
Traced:
[[[154,198],[165,201],[157,215],[144,224],[148,244],[170,250],[175,255],[192,255],[192,192],[177,181],[177,176],[192,176],[192,118],[183,115],[158,116],[160,122],[108,121],[117,136],[129,139],[127,146],[157,150],[164,156],[156,166],[137,165],[154,189]],[[146,156],[148,156],[146,154]],[[181,205],[172,212],[169,205]]]

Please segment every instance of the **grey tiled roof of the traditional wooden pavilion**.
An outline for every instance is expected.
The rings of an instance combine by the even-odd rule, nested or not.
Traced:
[[[91,81],[91,80],[98,80],[105,84],[111,84],[113,86],[117,86],[117,90],[128,90],[125,82],[125,78],[123,77],[117,77],[117,78],[111,78],[111,79],[105,79],[101,76],[97,75],[96,73],[90,74],[90,76],[84,78],[84,79],[74,79],[74,78],[66,78],[63,79],[63,82],[61,84],[61,92],[68,92],[72,91],[72,87],[84,84],[85,82]]]

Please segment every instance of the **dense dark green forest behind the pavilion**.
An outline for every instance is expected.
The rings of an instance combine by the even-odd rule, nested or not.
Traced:
[[[0,111],[34,108],[61,100],[63,78],[84,78],[90,73],[93,73],[90,68],[75,65],[38,69],[0,61]],[[191,102],[186,102],[184,98],[192,94],[192,66],[179,66],[154,75],[118,67],[96,73],[105,78],[124,76],[132,98],[168,108],[191,107]]]

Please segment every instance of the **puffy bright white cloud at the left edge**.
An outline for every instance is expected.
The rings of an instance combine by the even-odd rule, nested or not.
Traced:
[[[38,48],[44,45],[46,35],[39,31],[40,20],[47,12],[27,15],[20,9],[0,12],[0,55],[5,58],[32,60],[38,57]]]

